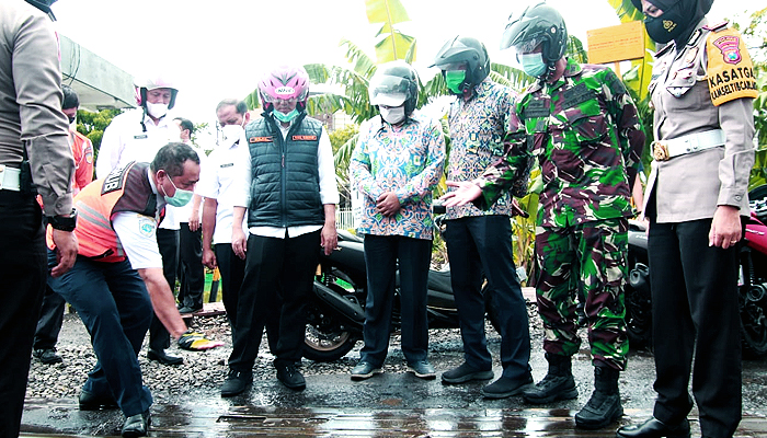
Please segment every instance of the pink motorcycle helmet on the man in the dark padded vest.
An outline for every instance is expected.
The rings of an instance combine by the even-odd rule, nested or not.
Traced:
[[[298,111],[304,111],[309,99],[309,74],[300,66],[277,67],[259,81],[259,94],[265,112],[272,111],[278,99],[295,99]]]

